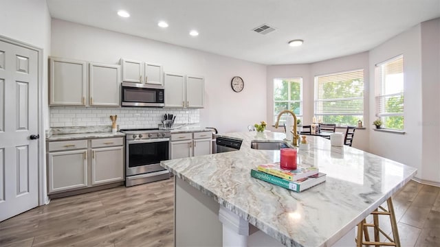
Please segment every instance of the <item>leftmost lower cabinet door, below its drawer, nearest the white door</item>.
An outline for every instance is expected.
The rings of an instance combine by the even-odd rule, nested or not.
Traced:
[[[50,152],[49,193],[87,187],[87,149]]]

